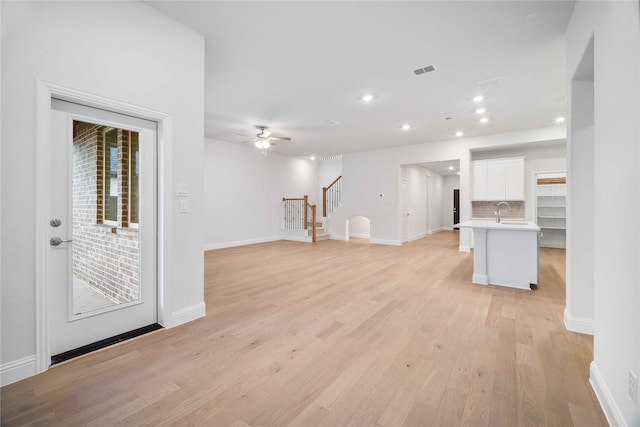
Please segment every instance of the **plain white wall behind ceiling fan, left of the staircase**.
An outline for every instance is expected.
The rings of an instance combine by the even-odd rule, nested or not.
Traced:
[[[206,139],[204,151],[205,249],[279,240],[282,198],[318,196],[318,165],[253,145]]]

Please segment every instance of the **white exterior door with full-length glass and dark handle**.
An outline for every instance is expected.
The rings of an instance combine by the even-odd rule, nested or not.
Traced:
[[[52,99],[49,354],[157,321],[156,123]]]

